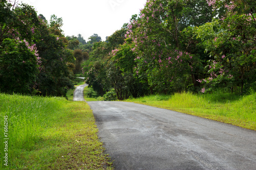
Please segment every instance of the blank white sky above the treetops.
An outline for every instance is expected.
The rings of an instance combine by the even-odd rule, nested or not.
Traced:
[[[81,34],[88,41],[94,33],[104,41],[139,14],[146,0],[20,0],[33,6],[47,20],[62,17],[65,36]]]

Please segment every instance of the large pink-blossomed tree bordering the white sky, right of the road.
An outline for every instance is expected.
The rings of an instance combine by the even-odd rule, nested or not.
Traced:
[[[180,18],[186,1],[147,1],[140,18],[128,26],[126,37],[135,44],[135,72],[150,85],[151,92],[185,90],[197,85],[197,56],[182,50]]]

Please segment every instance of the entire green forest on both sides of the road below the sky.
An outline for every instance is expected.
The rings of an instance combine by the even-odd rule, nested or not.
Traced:
[[[256,90],[254,0],[148,0],[106,41],[88,42],[65,37],[55,15],[6,0],[0,8],[0,92],[66,96],[77,74],[118,100]]]

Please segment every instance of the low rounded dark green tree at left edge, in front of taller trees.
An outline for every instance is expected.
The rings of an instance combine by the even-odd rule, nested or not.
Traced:
[[[4,39],[0,46],[0,91],[31,93],[38,62],[34,46],[27,41]]]

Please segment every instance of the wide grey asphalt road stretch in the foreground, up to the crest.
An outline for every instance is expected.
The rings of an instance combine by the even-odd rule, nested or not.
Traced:
[[[116,169],[256,169],[256,131],[125,102],[88,102]]]

